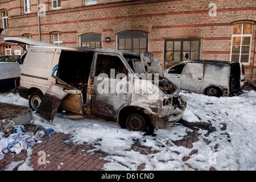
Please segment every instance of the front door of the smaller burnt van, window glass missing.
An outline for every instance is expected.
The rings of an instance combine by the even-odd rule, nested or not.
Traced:
[[[166,77],[168,80],[170,80],[179,89],[180,89],[181,74],[183,72],[184,67],[185,67],[184,63],[177,64],[171,68],[168,68],[164,72],[164,77]]]

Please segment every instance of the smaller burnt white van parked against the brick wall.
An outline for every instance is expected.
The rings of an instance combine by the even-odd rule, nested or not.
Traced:
[[[177,88],[208,96],[233,96],[245,83],[245,67],[230,61],[175,61],[164,76]]]

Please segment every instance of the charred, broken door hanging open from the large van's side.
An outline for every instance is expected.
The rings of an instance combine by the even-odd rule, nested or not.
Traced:
[[[65,85],[52,85],[44,94],[36,114],[52,122],[60,105],[72,113],[83,114],[81,91]]]

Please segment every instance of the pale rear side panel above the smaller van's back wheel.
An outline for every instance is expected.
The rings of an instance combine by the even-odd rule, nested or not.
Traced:
[[[201,93],[209,86],[229,89],[230,66],[221,64],[204,64],[204,81]]]

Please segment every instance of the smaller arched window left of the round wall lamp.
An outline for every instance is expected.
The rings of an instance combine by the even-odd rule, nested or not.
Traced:
[[[80,35],[80,47],[101,48],[101,34],[88,33]]]

